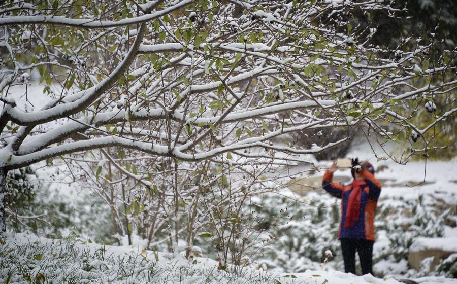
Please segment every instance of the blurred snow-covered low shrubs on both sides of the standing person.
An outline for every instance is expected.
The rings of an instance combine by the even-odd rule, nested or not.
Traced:
[[[258,243],[258,251],[252,255],[251,263],[257,267],[265,264],[269,270],[284,272],[343,269],[337,239],[341,208],[336,199],[322,192],[299,197],[281,191],[280,194],[265,194],[255,204],[251,209],[260,212],[262,219],[258,221],[262,226],[257,226],[257,229],[264,231],[262,238],[265,241]],[[444,236],[446,224],[457,217],[451,208],[451,204],[433,195],[421,195],[417,200],[381,198],[375,224],[379,242],[373,255],[375,275],[453,277],[455,254],[443,259],[431,271],[418,272],[407,265],[409,248],[416,238],[435,237],[439,241],[439,237]],[[323,266],[327,250],[333,257]]]

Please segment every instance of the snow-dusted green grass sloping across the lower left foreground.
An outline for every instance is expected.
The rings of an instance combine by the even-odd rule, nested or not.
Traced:
[[[6,283],[277,283],[273,275],[227,273],[213,264],[192,265],[182,259],[166,259],[161,253],[74,239],[11,236],[0,243],[0,278]]]

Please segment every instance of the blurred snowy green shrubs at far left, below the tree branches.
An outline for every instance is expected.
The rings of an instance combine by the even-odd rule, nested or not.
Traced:
[[[56,188],[56,182],[40,177],[32,180],[39,194],[20,207],[6,204],[7,226],[15,232],[33,232],[53,238],[90,236],[118,243],[113,237],[109,206],[86,189]],[[94,218],[96,216],[96,218]]]

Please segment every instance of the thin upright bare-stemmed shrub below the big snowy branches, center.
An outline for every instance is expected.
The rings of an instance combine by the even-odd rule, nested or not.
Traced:
[[[105,163],[110,165],[109,161],[95,161],[68,159],[73,173],[80,176],[78,182],[68,179],[68,169],[57,179],[71,187],[89,190],[96,200],[105,201],[103,208],[109,214],[104,216],[109,216],[115,237],[127,236],[130,244],[137,237],[145,247],[154,250],[185,249],[187,257],[201,255],[199,246],[203,245],[205,255],[215,252],[214,258],[221,259],[222,266],[229,260],[239,264],[245,250],[252,251],[258,241],[253,226],[259,217],[246,212],[245,207],[252,195],[271,190],[275,178],[267,178],[271,174],[266,171],[268,167],[249,163],[215,167],[214,163],[205,162],[193,172],[189,170],[190,163],[182,162],[182,170],[151,172],[144,179],[135,177],[137,169],[133,169],[130,176],[134,178],[127,180],[122,177],[125,170],[105,167]],[[126,169],[130,167],[135,165],[127,160]],[[108,171],[116,182],[109,183],[102,177]],[[148,182],[154,185],[145,185]],[[175,197],[179,198],[176,203]]]

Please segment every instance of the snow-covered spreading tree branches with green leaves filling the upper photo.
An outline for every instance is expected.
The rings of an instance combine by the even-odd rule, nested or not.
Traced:
[[[290,138],[325,128],[406,138],[413,153],[448,146],[432,142],[457,112],[455,50],[432,58],[437,43],[408,37],[394,50],[373,45],[376,30],[354,11],[403,12],[389,1],[2,2],[2,176],[94,149],[113,163],[128,152],[197,171],[205,161],[307,162],[302,154],[350,139],[304,149]],[[10,92],[33,74],[45,86],[40,108],[27,99],[37,94]],[[432,119],[419,125],[422,110]],[[119,170],[152,185],[146,169]]]

